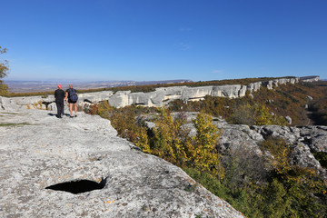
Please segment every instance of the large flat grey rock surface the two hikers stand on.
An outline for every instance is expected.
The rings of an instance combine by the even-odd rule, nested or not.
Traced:
[[[0,111],[1,217],[243,217],[179,167],[117,137],[110,121],[51,113]],[[90,192],[45,189],[102,178]]]

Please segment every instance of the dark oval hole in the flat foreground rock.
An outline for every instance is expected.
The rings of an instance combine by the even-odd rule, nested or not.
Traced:
[[[96,183],[90,180],[78,180],[66,183],[57,183],[54,185],[47,186],[45,189],[52,189],[54,191],[64,191],[68,193],[86,193],[96,189],[103,189],[107,178],[102,179],[100,183]]]

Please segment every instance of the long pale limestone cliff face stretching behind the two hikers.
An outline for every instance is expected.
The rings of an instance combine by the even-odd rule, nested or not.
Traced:
[[[140,104],[144,106],[163,106],[169,102],[181,99],[184,102],[203,100],[206,95],[217,97],[238,98],[243,97],[248,91],[250,94],[260,90],[264,85],[268,89],[273,86],[287,83],[298,83],[299,78],[280,78],[267,82],[257,82],[248,85],[241,84],[226,84],[226,85],[211,85],[200,87],[187,87],[187,86],[172,86],[156,88],[154,92],[150,93],[131,93],[131,91],[119,91],[113,93],[111,91],[104,91],[98,93],[78,94],[78,104],[90,104],[100,101],[108,101],[114,107],[124,107],[132,104]],[[34,105],[35,108],[45,108],[45,104],[54,102],[54,96],[33,96],[33,97],[15,97],[12,98],[15,104],[19,105]],[[50,108],[54,109],[55,104],[50,104]]]

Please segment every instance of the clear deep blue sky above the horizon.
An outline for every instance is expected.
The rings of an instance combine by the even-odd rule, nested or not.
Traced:
[[[327,78],[326,0],[0,0],[11,80]]]

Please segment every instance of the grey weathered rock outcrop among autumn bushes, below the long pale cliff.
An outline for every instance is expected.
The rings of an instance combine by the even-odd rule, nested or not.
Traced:
[[[188,124],[185,127],[190,129],[190,134],[195,135],[196,131],[191,120],[196,118],[198,113],[183,113]],[[144,116],[144,115],[143,115]],[[177,117],[178,113],[173,113]],[[151,116],[150,116],[151,117]],[[148,128],[155,128],[151,119],[143,117]],[[249,154],[263,155],[260,144],[269,137],[282,138],[292,147],[291,163],[303,167],[311,167],[327,179],[327,170],[322,168],[312,153],[327,153],[327,126],[279,126],[279,125],[253,125],[227,124],[224,120],[213,118],[213,123],[223,130],[219,139],[220,152],[223,155],[239,153],[240,151]]]

